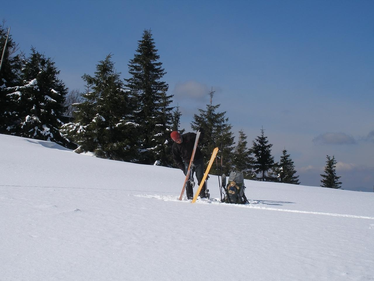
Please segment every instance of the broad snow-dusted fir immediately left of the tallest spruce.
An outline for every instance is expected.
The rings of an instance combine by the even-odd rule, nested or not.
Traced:
[[[134,122],[135,101],[114,70],[111,55],[96,65],[95,76],[82,76],[86,91],[74,105],[74,123],[61,132],[79,145],[76,152],[93,152],[113,160],[138,160],[138,124]]]

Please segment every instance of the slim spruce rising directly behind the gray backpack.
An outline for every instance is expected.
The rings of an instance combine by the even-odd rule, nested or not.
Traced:
[[[242,171],[244,178],[252,179],[256,174],[252,171],[254,158],[251,157],[251,150],[247,147],[247,136],[243,130],[239,131],[239,140],[232,153],[232,166],[234,169]]]

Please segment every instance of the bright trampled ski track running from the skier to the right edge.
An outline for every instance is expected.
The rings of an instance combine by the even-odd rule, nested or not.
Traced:
[[[140,195],[132,195],[135,197],[143,197],[143,198],[154,198],[160,199],[163,201],[179,201],[179,196],[170,196],[170,195],[148,195],[148,194],[140,194]],[[185,198],[185,197],[184,197]],[[282,211],[282,212],[291,212],[291,213],[303,213],[303,214],[313,214],[313,215],[328,215],[333,217],[346,217],[346,218],[365,218],[368,220],[374,220],[374,217],[367,217],[367,216],[358,216],[358,215],[346,215],[346,214],[334,214],[334,213],[324,213],[324,212],[313,212],[313,211],[300,211],[300,210],[291,210],[291,209],[280,209],[280,208],[271,208],[271,207],[263,207],[263,206],[255,206],[254,204],[263,204],[260,201],[249,200],[250,202],[245,205],[238,205],[238,204],[227,204],[222,203],[219,198],[210,198],[210,199],[198,199],[196,203],[202,204],[221,204],[225,206],[233,206],[239,208],[251,208],[251,209],[263,209],[263,210],[270,210],[270,211]],[[183,199],[182,202],[190,203],[190,200]],[[374,228],[374,225],[373,225]]]

